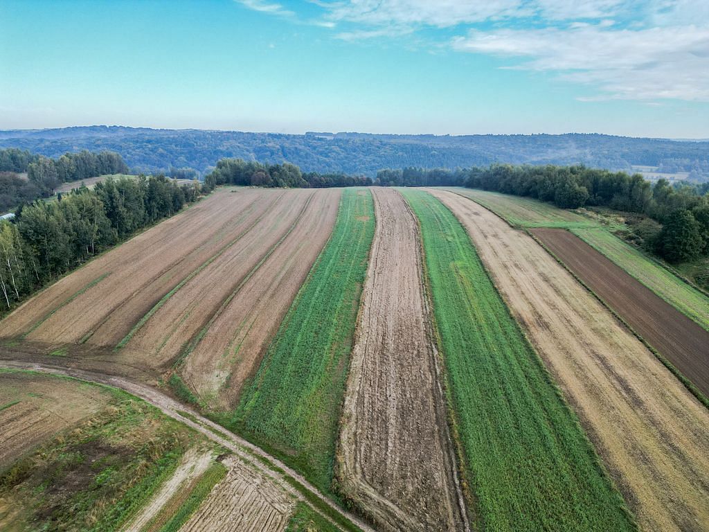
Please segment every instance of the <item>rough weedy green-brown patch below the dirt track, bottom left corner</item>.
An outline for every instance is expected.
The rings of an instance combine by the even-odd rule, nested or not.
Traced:
[[[197,436],[124,392],[106,408],[9,465],[0,499],[12,529],[116,531],[172,475]],[[0,511],[0,528],[9,516]]]

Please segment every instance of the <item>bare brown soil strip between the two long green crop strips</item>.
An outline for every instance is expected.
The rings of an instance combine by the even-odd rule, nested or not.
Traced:
[[[338,480],[387,530],[464,530],[418,226],[398,192],[372,191],[376,233],[347,380]]]

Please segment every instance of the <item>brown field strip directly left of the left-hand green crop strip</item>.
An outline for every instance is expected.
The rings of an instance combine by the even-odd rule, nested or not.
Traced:
[[[293,231],[209,323],[186,358],[185,381],[201,399],[220,406],[238,401],[272,336],[330,237],[340,190],[319,190]]]

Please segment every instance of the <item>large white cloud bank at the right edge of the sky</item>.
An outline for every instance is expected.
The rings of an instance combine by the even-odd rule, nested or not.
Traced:
[[[599,87],[603,96],[593,99],[709,101],[708,26],[470,31],[452,46],[521,58],[516,68],[559,72],[568,81]]]

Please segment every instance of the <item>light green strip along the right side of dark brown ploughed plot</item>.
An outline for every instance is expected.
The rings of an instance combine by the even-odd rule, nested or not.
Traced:
[[[709,297],[603,228],[571,231],[709,331]]]

